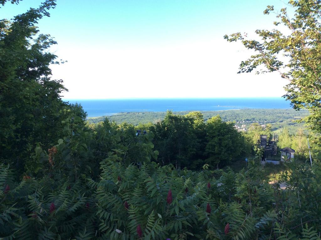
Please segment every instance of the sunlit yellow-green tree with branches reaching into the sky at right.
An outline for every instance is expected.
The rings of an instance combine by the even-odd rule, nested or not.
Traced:
[[[291,101],[294,109],[308,109],[310,116],[304,118],[310,129],[321,133],[321,1],[290,0],[289,6],[294,15],[289,16],[287,9],[276,13],[276,26],[272,30],[256,30],[260,40],[247,39],[240,32],[225,35],[230,42],[241,41],[247,48],[255,51],[240,64],[239,73],[278,72],[288,81],[283,96]],[[274,12],[267,6],[264,14]],[[278,25],[284,25],[277,29]],[[316,141],[320,145],[320,141]]]

